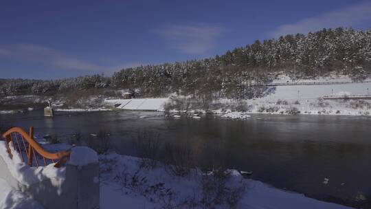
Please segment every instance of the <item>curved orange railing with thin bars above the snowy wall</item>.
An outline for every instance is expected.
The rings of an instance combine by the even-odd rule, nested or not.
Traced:
[[[10,157],[13,157],[10,143],[15,151],[17,151],[22,159],[22,162],[27,162],[28,166],[42,166],[39,162],[43,162],[44,166],[50,163],[56,163],[54,167],[63,166],[69,159],[70,150],[61,151],[58,153],[49,153],[34,140],[34,128],[30,127],[30,132],[26,133],[23,129],[15,127],[9,129],[3,134],[5,144],[7,146]]]

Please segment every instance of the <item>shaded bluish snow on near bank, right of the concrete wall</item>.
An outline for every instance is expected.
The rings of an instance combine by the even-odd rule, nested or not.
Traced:
[[[177,177],[170,174],[164,165],[154,169],[140,168],[139,160],[137,157],[115,153],[100,156],[102,209],[122,208],[122,206],[204,208],[202,198],[205,197],[205,193],[202,192],[201,171],[191,170],[186,177]],[[348,208],[273,188],[253,179],[245,179],[237,170],[228,170],[228,173],[228,186],[244,186],[236,208]],[[166,191],[170,191],[171,195]],[[229,206],[225,203],[215,208],[229,208]]]

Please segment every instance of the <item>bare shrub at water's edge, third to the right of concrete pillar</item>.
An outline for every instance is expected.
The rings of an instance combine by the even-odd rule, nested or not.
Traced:
[[[166,164],[166,170],[175,176],[188,175],[190,168],[194,166],[192,150],[186,145],[165,144],[162,158]]]

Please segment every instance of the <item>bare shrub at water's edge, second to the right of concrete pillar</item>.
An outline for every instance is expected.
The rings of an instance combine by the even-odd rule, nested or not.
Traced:
[[[141,158],[140,166],[155,168],[159,161],[160,141],[159,133],[139,131],[134,140],[135,151]]]

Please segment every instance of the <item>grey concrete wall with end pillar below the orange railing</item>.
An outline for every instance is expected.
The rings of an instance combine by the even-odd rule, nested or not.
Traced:
[[[0,178],[41,203],[46,209],[95,209],[100,206],[98,164],[86,166],[67,164],[64,181],[47,179],[25,186],[12,176],[3,158],[0,157]]]

